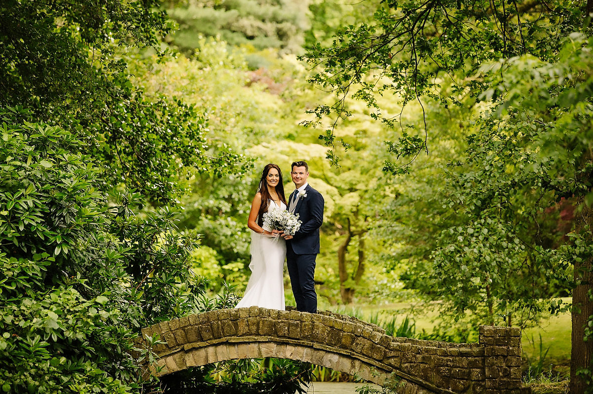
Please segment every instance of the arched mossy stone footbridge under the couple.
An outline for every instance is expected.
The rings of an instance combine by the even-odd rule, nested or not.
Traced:
[[[518,328],[480,326],[478,343],[397,338],[354,317],[251,308],[221,309],[142,330],[160,335],[157,375],[216,361],[275,357],[329,367],[401,393],[521,393]],[[142,340],[139,338],[139,342]],[[157,372],[158,370],[158,372]]]

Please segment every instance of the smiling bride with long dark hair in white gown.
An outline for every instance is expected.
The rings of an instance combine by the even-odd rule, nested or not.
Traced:
[[[284,310],[283,267],[286,244],[278,230],[264,227],[263,214],[273,208],[286,209],[282,172],[276,164],[266,164],[259,188],[251,202],[247,227],[251,231],[251,277],[243,299],[235,308],[261,306]]]

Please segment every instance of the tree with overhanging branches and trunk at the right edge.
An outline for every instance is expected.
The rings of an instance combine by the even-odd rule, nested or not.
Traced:
[[[432,105],[476,109],[477,120],[466,118],[476,122],[467,135],[467,153],[450,160],[452,187],[437,199],[450,204],[461,223],[442,228],[432,254],[432,277],[506,314],[506,308],[519,310],[515,308],[521,305],[512,306],[514,302],[537,311],[528,296],[551,294],[537,281],[551,279],[563,289],[566,275],[575,269],[575,393],[590,386],[577,373],[590,376],[586,369],[591,359],[591,349],[582,341],[588,336],[582,323],[591,314],[591,301],[583,295],[589,286],[591,257],[584,245],[591,238],[588,212],[593,202],[588,180],[590,73],[584,60],[591,28],[582,23],[586,11],[570,2],[384,2],[374,25],[351,25],[337,34],[333,47],[314,46],[306,56],[321,64],[313,81],[340,95],[334,104],[313,110],[318,120],[331,113],[348,117],[345,98],[351,94],[374,109],[371,117],[401,128],[401,137],[388,144],[388,151],[407,160],[388,162],[385,169],[391,173],[409,172],[417,154],[428,152],[434,130],[425,124],[410,132],[398,124],[398,115],[382,114],[378,95],[396,91],[404,105],[414,100],[426,104],[432,98]],[[584,38],[571,35],[573,31]],[[491,63],[495,72],[487,67]],[[339,142],[334,134],[339,116],[322,136],[329,146]],[[331,152],[329,157],[337,162]],[[554,206],[563,198],[580,215],[568,242],[553,226],[558,222]],[[501,275],[498,270],[505,265],[518,275]],[[529,291],[517,291],[521,286]],[[470,306],[456,298],[458,311]]]

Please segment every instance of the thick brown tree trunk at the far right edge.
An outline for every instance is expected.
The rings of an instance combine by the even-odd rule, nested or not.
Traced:
[[[575,232],[585,234],[585,239],[591,243],[591,224],[593,224],[593,210],[586,206],[581,199],[582,211],[576,215]],[[587,226],[589,226],[587,228]],[[589,292],[593,290],[593,273],[591,257],[582,261],[574,261],[576,288],[572,293],[572,349],[570,352],[570,393],[583,394],[586,382],[576,375],[581,369],[591,368],[593,354],[593,338],[585,341],[585,327],[589,316],[593,315],[593,302]]]

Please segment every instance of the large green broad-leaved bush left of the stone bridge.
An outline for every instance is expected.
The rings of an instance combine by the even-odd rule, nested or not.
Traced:
[[[189,269],[197,236],[178,234],[169,209],[134,214],[134,193],[100,192],[83,141],[26,115],[0,110],[0,387],[135,392],[139,328],[203,293]]]

